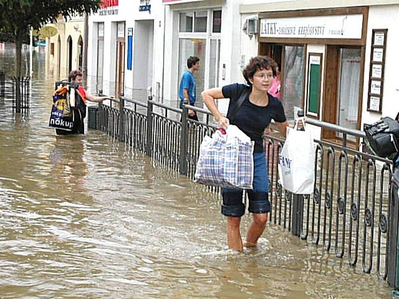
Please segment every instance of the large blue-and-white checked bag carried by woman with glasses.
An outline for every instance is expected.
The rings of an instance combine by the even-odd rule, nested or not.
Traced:
[[[200,145],[195,181],[210,186],[252,189],[253,147],[250,140],[234,125],[226,134],[205,136]]]

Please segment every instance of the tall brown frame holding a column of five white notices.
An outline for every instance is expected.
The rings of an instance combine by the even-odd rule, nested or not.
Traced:
[[[382,112],[387,33],[388,29],[373,29],[367,111]]]

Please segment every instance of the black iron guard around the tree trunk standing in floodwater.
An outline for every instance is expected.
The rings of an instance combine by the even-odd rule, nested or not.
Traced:
[[[12,108],[16,113],[27,112],[30,105],[30,77],[12,77]]]

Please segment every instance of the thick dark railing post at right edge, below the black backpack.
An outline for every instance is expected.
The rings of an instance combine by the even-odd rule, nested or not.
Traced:
[[[391,205],[390,205],[390,221],[389,221],[389,243],[388,243],[388,277],[387,281],[391,287],[399,288],[399,239],[398,239],[398,224],[399,224],[399,200],[398,200],[398,182],[395,178],[395,171],[392,175],[391,184]]]

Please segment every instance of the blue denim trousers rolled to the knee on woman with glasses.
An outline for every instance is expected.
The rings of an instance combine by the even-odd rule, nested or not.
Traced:
[[[253,153],[253,189],[246,190],[248,195],[248,212],[262,214],[270,212],[269,179],[264,152]],[[245,204],[242,202],[242,189],[222,188],[223,203],[221,213],[224,216],[241,217],[245,213]]]

